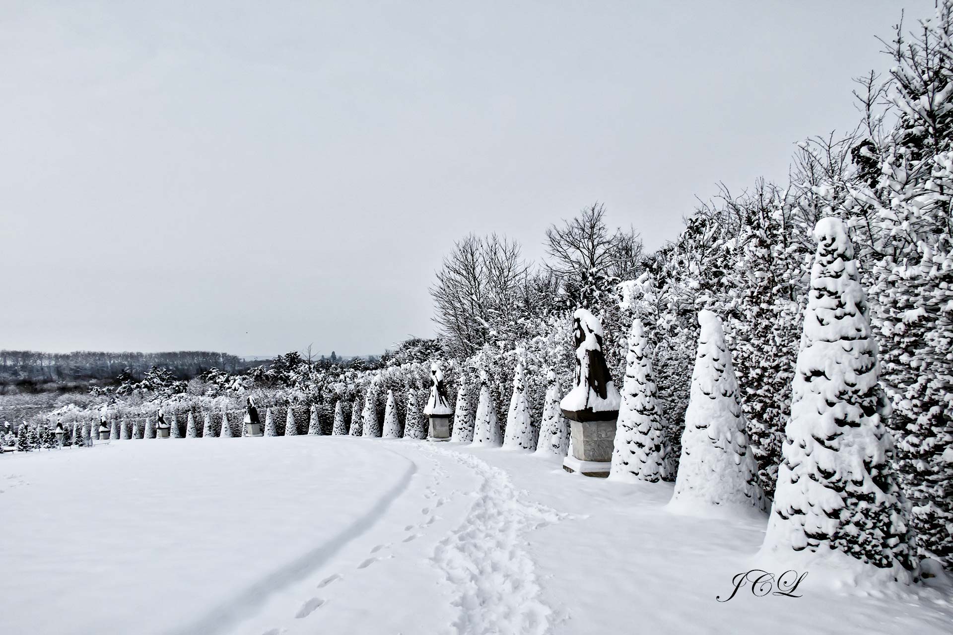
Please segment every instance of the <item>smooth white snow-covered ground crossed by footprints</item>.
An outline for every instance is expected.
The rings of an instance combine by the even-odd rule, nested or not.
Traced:
[[[497,448],[351,437],[0,456],[0,633],[949,633],[948,589],[727,603],[765,520]]]

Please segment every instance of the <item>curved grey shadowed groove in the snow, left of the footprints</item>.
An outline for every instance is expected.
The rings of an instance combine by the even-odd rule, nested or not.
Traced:
[[[406,459],[410,465],[404,470],[395,485],[385,492],[366,514],[338,532],[331,540],[320,544],[293,562],[275,570],[244,591],[237,593],[233,598],[214,606],[212,610],[194,620],[191,624],[167,631],[168,635],[217,635],[229,632],[238,623],[252,617],[274,593],[305,579],[324,563],[331,560],[345,545],[367,532],[375,525],[375,522],[384,517],[391,503],[406,491],[412,477],[417,472],[415,461],[406,455],[396,452],[394,454]]]

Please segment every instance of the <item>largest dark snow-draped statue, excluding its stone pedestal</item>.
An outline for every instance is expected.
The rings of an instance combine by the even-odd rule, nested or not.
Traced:
[[[576,380],[559,402],[562,414],[574,421],[615,420],[621,397],[602,354],[602,324],[587,309],[573,314],[576,338]]]

